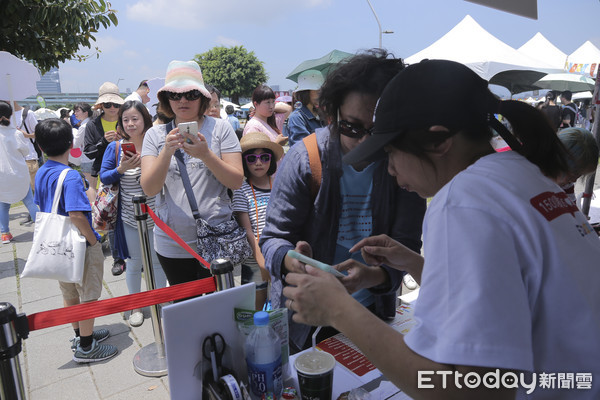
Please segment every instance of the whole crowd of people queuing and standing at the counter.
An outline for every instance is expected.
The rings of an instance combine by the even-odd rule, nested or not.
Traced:
[[[596,170],[598,147],[588,130],[574,127],[578,110],[570,92],[561,94],[562,109],[549,92],[540,111],[500,101],[461,64],[426,60],[406,67],[371,50],[327,76],[300,74],[295,107],[276,103],[271,88],[258,86],[254,115],[242,129],[233,109],[221,119],[221,94],[204,83],[194,61],[168,65],[154,122],[144,83],[127,99],[104,83],[95,105],[74,106],[78,128],[66,116],[22,132],[10,122],[20,110],[0,102],[6,162],[15,166],[11,179],[20,180],[0,198],[3,242],[10,235],[7,207],[23,199],[35,220],[38,206],[49,210],[60,172],[79,158],[81,174],[69,171],[59,213],[81,226],[89,257],[81,285],[60,283],[65,305],[100,295],[102,237],[90,206],[99,177],[120,187],[117,225],[107,237],[112,273],[126,273],[130,293],[141,290],[142,273],[131,199],[145,194],[192,248],[198,220],[217,227],[235,218],[252,249],[241,263],[242,282],[255,283],[256,309],[270,300],[290,310],[291,353],[310,346],[314,326],[325,327],[319,340],[342,332],[415,398],[423,395],[417,379],[423,370],[586,372],[600,379],[600,240],[567,193]],[[181,124],[196,131],[180,131]],[[494,151],[495,134],[512,151]],[[27,157],[39,167],[34,144],[47,159],[35,189],[22,179],[34,164]],[[210,276],[159,226],[150,227],[157,287]],[[306,265],[289,250],[344,276]],[[395,315],[407,274],[421,290],[417,324],[402,336],[385,321]],[[564,315],[568,324],[557,318]],[[128,318],[140,326],[142,310]],[[94,330],[93,320],[73,328],[75,361],[118,353],[100,344],[109,332]],[[572,340],[573,331],[580,339]],[[432,378],[428,396],[481,398],[485,390],[450,380],[442,386],[441,376]],[[588,394],[597,397],[600,386]],[[524,388],[493,392],[515,395],[525,396]]]

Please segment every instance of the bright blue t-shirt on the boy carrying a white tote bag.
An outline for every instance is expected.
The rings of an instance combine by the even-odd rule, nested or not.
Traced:
[[[34,201],[40,206],[40,211],[47,213],[52,211],[56,183],[58,182],[60,173],[65,168],[69,168],[69,166],[48,160],[35,174]],[[100,235],[94,230],[92,225],[92,207],[85,194],[83,178],[75,170],[67,172],[67,176],[63,182],[60,201],[58,202],[58,214],[68,217],[69,211],[83,212],[94,231],[94,235],[96,235],[96,239],[100,240]]]

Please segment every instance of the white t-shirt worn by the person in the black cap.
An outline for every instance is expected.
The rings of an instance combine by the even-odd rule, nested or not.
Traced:
[[[600,398],[600,240],[560,187],[516,152],[492,154],[436,194],[423,228],[413,351],[538,380],[591,373],[592,390],[528,398]]]

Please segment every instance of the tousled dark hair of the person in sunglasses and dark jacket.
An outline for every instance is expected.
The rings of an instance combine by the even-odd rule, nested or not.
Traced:
[[[337,113],[351,92],[379,98],[388,82],[404,69],[399,58],[383,49],[371,49],[342,61],[330,71],[319,95],[319,107],[337,129]],[[298,95],[296,95],[298,98]]]

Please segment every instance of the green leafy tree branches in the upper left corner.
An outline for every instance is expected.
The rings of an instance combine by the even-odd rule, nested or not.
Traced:
[[[117,25],[104,0],[0,0],[0,49],[34,63],[42,73],[66,60],[85,60],[94,33]],[[96,58],[100,50],[95,47]]]

